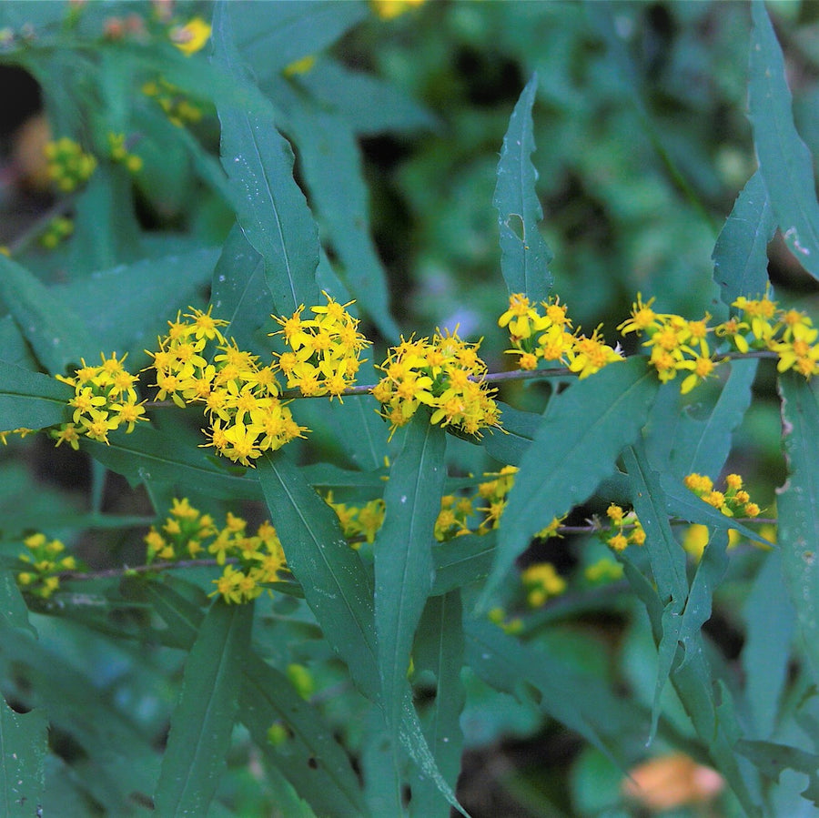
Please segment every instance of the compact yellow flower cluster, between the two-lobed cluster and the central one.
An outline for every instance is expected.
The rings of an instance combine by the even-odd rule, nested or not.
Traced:
[[[347,304],[339,304],[326,292],[327,304],[311,307],[315,318],[301,318],[299,307],[290,318],[273,318],[281,325],[278,332],[288,345],[288,352],[278,356],[278,369],[288,379],[288,389],[298,388],[306,398],[329,395],[341,399],[356,379],[361,365],[361,351],[369,340],[359,332],[359,321],[353,318]]]

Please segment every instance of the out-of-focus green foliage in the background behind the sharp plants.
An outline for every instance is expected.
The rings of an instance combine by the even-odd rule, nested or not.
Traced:
[[[9,5],[23,20],[32,14],[57,15],[54,7],[60,4]],[[147,9],[139,4],[90,4],[82,25],[94,33],[106,19],[125,17],[137,6]],[[786,0],[769,10],[784,46],[796,123],[815,156],[819,5]],[[208,18],[210,7],[178,4],[177,11]],[[58,15],[63,14],[61,9]],[[734,198],[755,167],[746,117],[749,32],[748,5],[723,2],[429,0],[389,20],[362,15],[360,24],[329,52],[343,65],[388,81],[429,114],[428,126],[416,122],[399,132],[360,139],[374,238],[388,269],[393,314],[402,331],[427,335],[436,327],[460,327],[464,338],[484,338],[491,371],[506,368],[506,340],[496,326],[505,292],[491,200],[512,107],[534,72],[539,78],[533,111],[538,149],[532,160],[540,173],[542,229],[554,253],[554,292],[569,303],[575,321],[587,331],[603,323],[613,342],[614,327],[626,317],[638,291],[644,298],[655,296],[662,311],[688,318],[708,311],[723,318],[711,252]],[[5,89],[0,244],[12,247],[22,263],[45,280],[59,282],[60,270],[76,253],[70,241],[46,250],[27,240],[38,220],[52,215],[56,202],[42,176],[39,149],[47,126],[36,118],[42,100],[35,77],[17,67],[0,66],[0,86]],[[112,93],[116,96],[116,89]],[[213,110],[203,106],[201,120],[190,129],[217,155]],[[232,215],[217,193],[197,181],[185,151],[148,142],[141,147],[145,168],[135,189],[140,226],[171,237],[180,251],[202,244],[219,247]],[[770,258],[776,297],[816,315],[816,284],[778,237]],[[206,297],[203,292],[201,298]],[[540,410],[543,389],[517,385],[503,397],[523,409]],[[784,481],[784,459],[770,361],[763,362],[754,389],[757,400],[735,435],[729,465],[743,473],[753,499],[772,509],[774,490]],[[314,420],[320,427],[320,419],[311,418],[311,425]],[[332,435],[330,429],[322,436],[319,429],[311,459],[326,459],[333,449]],[[453,470],[484,468],[486,463],[476,457],[476,449],[452,440]],[[15,441],[0,458],[5,530],[34,520],[41,507],[54,520],[61,514],[68,520],[83,507],[88,492],[103,491],[96,467],[70,453],[56,454],[48,443]],[[107,510],[147,512],[145,499],[127,490],[124,482],[108,476],[105,491]],[[593,511],[600,509],[580,510],[579,520]],[[107,551],[116,560],[136,562],[141,543],[130,533],[95,530],[80,546],[86,555]],[[549,559],[567,575],[604,553],[599,544],[581,538],[539,543],[536,549],[532,560]],[[734,673],[742,671],[738,658],[743,606],[758,565],[757,552],[734,553],[729,579],[715,598],[706,628],[721,661]],[[621,591],[616,584],[580,589],[571,604],[558,601],[528,614],[523,636],[609,686],[629,690],[636,702],[649,706],[656,653],[647,621]],[[520,611],[525,611],[524,595],[512,589],[509,616]],[[279,601],[269,631],[263,628],[258,639],[280,665],[309,665],[324,692],[329,717],[349,746],[359,746],[361,714],[347,699],[332,695],[334,685],[343,687],[345,682],[326,644],[315,639],[313,626],[299,616],[295,602]],[[282,632],[277,617],[291,617],[288,627],[303,631],[305,638],[282,645],[275,638]],[[112,656],[109,642],[89,638],[79,628],[72,635],[63,622],[57,635],[56,624],[49,631],[45,622],[37,621],[40,638],[52,643],[60,662],[93,667],[112,707],[125,708],[147,734],[161,731],[178,681],[177,653],[156,651],[146,661],[146,654],[131,646]],[[622,803],[622,772],[612,762],[556,723],[544,722],[534,704],[494,692],[470,674],[465,682],[469,696],[462,726],[467,752],[459,795],[476,818],[740,814],[730,796],[708,801],[694,783],[682,788],[680,803],[612,807]],[[788,695],[796,702],[803,692],[796,684]],[[679,730],[682,737],[679,749],[690,728],[670,690],[665,698],[672,732]],[[636,761],[645,756],[644,738],[637,731],[622,737],[627,757]],[[52,742],[53,763],[71,759],[81,770],[69,735],[56,732]],[[246,735],[238,734],[236,748],[220,797],[233,804],[236,814],[277,814],[279,784],[253,773],[256,760]],[[662,756],[662,751],[661,738],[652,755]],[[673,774],[678,782],[695,780],[687,767],[682,773],[674,768]],[[88,803],[73,804],[76,791],[70,787],[52,797],[55,803],[63,799],[62,812],[53,814],[90,810]],[[782,799],[782,815],[814,814],[799,812],[805,802],[797,804],[798,798]]]

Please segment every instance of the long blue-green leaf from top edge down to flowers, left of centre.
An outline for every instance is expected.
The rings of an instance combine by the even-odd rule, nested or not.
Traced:
[[[214,15],[215,59],[246,93],[252,89],[233,44],[227,4]],[[252,104],[234,95],[217,96],[222,126],[222,165],[235,197],[238,223],[248,242],[265,260],[265,276],[278,315],[301,304],[317,304],[316,267],[319,235],[304,194],[293,178],[293,151],[276,129],[267,99]]]

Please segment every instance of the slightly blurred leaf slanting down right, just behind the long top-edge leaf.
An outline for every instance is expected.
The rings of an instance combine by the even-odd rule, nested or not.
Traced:
[[[280,92],[288,88],[283,81],[275,87]],[[339,276],[381,334],[397,341],[399,328],[389,314],[387,274],[370,235],[369,196],[352,127],[342,116],[298,97],[287,116],[310,201],[339,258]]]

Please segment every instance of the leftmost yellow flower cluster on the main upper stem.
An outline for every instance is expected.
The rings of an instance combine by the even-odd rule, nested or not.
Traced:
[[[124,428],[132,432],[136,423],[146,420],[145,406],[136,395],[138,376],[131,375],[123,366],[116,352],[110,358],[100,353],[102,363],[88,366],[80,359],[82,367],[75,369],[73,378],[57,375],[56,379],[74,387],[74,398],[68,406],[74,409],[71,421],[63,423],[51,432],[56,445],[67,443],[72,449],[79,448],[79,438],[85,435],[100,443],[108,443],[108,432]]]

